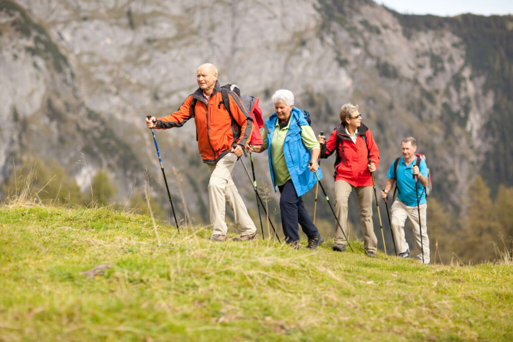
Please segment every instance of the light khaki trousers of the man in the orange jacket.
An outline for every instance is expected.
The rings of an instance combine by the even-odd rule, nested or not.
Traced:
[[[257,231],[237,187],[231,178],[231,171],[235,166],[237,156],[228,153],[217,164],[207,164],[210,171],[208,182],[208,199],[210,203],[210,224],[212,235],[225,235],[228,227],[225,223],[226,204],[233,211],[235,227],[241,235],[253,234]]]

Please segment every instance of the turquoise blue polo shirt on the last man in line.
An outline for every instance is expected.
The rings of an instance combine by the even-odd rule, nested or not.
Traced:
[[[408,207],[417,206],[417,192],[415,191],[415,178],[413,178],[413,167],[415,166],[417,158],[418,156],[415,156],[410,165],[406,165],[404,162],[404,157],[401,157],[397,166],[397,186],[400,191],[398,191],[397,197]],[[427,177],[427,165],[426,162],[424,162],[422,159],[420,160],[419,170],[424,177]],[[390,179],[393,179],[394,174],[395,170],[393,169],[392,163],[386,176]],[[424,204],[426,203],[426,191],[418,180],[417,186],[419,190],[419,196],[422,196],[419,198],[419,204]]]

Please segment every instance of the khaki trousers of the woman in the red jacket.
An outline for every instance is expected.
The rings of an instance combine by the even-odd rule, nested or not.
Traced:
[[[353,187],[345,180],[337,180],[335,182],[335,213],[342,229],[344,229],[344,233],[347,235],[347,200],[353,188],[358,197],[365,251],[376,253],[378,238],[374,234],[372,224],[372,187]],[[344,234],[339,225],[336,224],[335,244],[345,245],[346,242]]]

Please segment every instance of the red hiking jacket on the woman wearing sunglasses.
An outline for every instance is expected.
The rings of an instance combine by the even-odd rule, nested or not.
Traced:
[[[339,125],[331,132],[326,144],[321,146],[321,158],[327,158],[333,152],[337,152],[334,164],[336,181],[343,179],[353,187],[372,186],[372,176],[367,168],[368,159],[378,167],[380,151],[367,126],[360,125],[355,144],[347,135],[345,127]]]

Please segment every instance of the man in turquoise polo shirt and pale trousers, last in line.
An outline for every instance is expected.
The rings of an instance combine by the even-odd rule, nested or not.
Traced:
[[[394,164],[388,169],[388,180],[386,182],[384,190],[381,191],[381,197],[386,198],[387,193],[392,189],[395,183],[394,178],[397,179],[398,195],[397,199],[394,200],[391,208],[391,226],[393,230],[393,236],[396,240],[396,248],[399,252],[399,256],[409,257],[410,250],[406,239],[404,238],[404,223],[406,218],[409,218],[413,224],[413,235],[419,251],[424,251],[424,264],[429,264],[429,238],[427,236],[427,225],[426,225],[426,193],[425,187],[428,185],[427,178],[427,166],[424,160],[420,160],[420,165],[416,166],[415,155],[417,151],[417,142],[413,137],[404,138],[401,142],[402,158],[399,160],[396,170],[394,170]],[[415,188],[415,176],[417,176],[418,184],[417,190]],[[420,223],[419,227],[419,211],[417,209],[417,195],[419,196],[419,209],[420,209]],[[422,230],[422,239],[421,239]],[[421,244],[422,241],[422,244]],[[422,261],[422,252],[416,256],[416,259]]]

